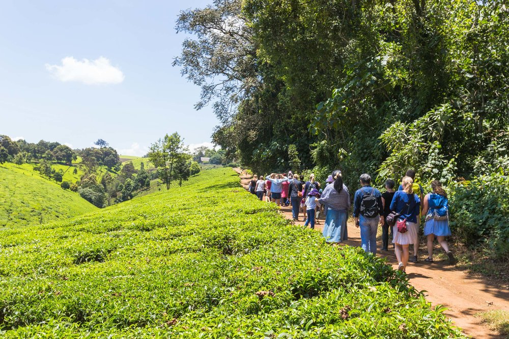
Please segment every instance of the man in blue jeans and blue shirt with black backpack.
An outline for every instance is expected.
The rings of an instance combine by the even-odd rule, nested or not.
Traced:
[[[382,194],[371,187],[371,176],[360,176],[361,188],[355,192],[353,217],[355,226],[360,228],[360,242],[366,253],[377,254],[378,224],[383,223]]]

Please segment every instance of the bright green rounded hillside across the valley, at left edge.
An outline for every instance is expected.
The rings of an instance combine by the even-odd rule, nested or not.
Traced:
[[[30,164],[0,165],[0,226],[40,225],[96,209],[77,193],[41,177]]]

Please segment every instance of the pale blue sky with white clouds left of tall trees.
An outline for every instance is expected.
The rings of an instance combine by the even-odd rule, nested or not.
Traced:
[[[218,121],[193,109],[200,88],[172,66],[179,12],[209,3],[2,0],[0,134],[74,148],[102,138],[125,155],[166,133],[210,142]]]

